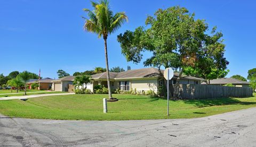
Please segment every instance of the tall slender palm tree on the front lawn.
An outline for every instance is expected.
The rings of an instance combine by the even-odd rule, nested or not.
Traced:
[[[108,97],[112,98],[111,89],[110,89],[110,80],[109,80],[109,68],[108,68],[108,51],[107,51],[107,38],[108,35],[115,32],[121,25],[128,21],[127,16],[124,12],[118,12],[113,14],[113,11],[110,10],[109,3],[107,0],[101,0],[99,3],[91,2],[94,8],[93,11],[90,11],[87,8],[83,10],[87,12],[89,19],[85,19],[84,30],[88,32],[93,32],[98,34],[98,37],[101,36],[104,39],[105,43],[105,59],[106,59],[106,70],[107,70],[107,81],[108,81]]]

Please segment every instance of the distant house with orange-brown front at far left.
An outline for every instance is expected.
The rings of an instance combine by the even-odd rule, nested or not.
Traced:
[[[38,90],[51,90],[52,89],[52,80],[53,79],[51,79],[50,77],[46,77],[40,81],[38,81],[38,79],[37,79],[36,81],[28,82],[27,85],[28,85],[28,88],[31,89],[31,84],[38,83],[40,85]]]

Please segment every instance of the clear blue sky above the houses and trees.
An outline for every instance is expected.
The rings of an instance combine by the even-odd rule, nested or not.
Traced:
[[[142,63],[126,62],[116,36],[144,25],[147,15],[158,8],[176,5],[195,12],[197,19],[205,19],[210,27],[217,25],[223,32],[225,56],[230,62],[228,77],[246,77],[247,71],[256,67],[256,1],[110,0],[110,5],[114,12],[124,11],[129,16],[129,22],[108,38],[110,67],[142,68]],[[83,31],[83,8],[91,9],[90,1],[0,0],[0,73],[38,73],[41,68],[41,76],[54,78],[59,69],[73,74],[105,67],[103,39]]]

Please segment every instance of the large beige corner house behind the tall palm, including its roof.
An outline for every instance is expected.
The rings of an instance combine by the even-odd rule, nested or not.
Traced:
[[[161,71],[164,72],[163,70]],[[111,89],[121,89],[123,91],[130,91],[136,89],[137,91],[153,90],[158,92],[159,85],[163,84],[163,80],[159,79],[159,72],[157,68],[141,68],[138,70],[129,70],[120,73],[109,72]],[[179,74],[174,73],[173,79],[170,83],[175,84]],[[182,76],[180,84],[200,84],[203,79],[193,76]],[[93,91],[95,85],[102,84],[107,87],[107,73],[99,73],[92,75],[92,82],[87,84],[87,88]]]

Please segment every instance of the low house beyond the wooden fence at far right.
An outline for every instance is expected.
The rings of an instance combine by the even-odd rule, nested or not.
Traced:
[[[233,84],[235,87],[249,87],[250,83],[247,81],[241,81],[233,78],[222,78],[222,79],[215,79],[215,80],[210,80],[211,85],[225,85],[225,84]],[[203,82],[202,84],[206,84]]]

